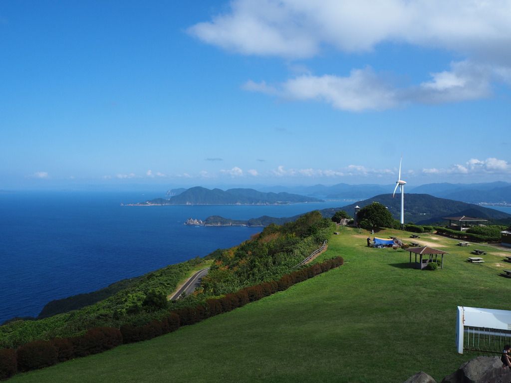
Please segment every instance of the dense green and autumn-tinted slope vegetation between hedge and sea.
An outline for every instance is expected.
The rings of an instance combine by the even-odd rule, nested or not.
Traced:
[[[127,281],[125,289],[100,302],[37,321],[17,320],[0,326],[0,349],[18,348],[36,340],[79,336],[96,327],[143,326],[165,318],[171,310],[204,304],[207,298],[261,282],[277,281],[296,270],[294,267],[326,241],[334,227],[317,210],[283,226],[269,225],[239,246],[218,249],[204,258],[190,259]],[[202,279],[202,289],[178,301],[168,301],[178,284],[206,263],[211,268]],[[87,301],[84,295],[79,295],[51,306],[53,312],[62,312],[66,307],[81,307]]]

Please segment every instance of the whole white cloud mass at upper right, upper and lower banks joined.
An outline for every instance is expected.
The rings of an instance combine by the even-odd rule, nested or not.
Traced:
[[[189,28],[199,39],[243,55],[306,59],[331,49],[371,52],[381,43],[451,52],[448,70],[418,85],[395,86],[388,74],[353,68],[314,76],[304,64],[280,84],[247,81],[243,89],[287,101],[314,100],[362,111],[476,100],[492,83],[511,84],[511,2],[507,0],[234,0],[223,14]],[[394,58],[399,61],[399,58]]]

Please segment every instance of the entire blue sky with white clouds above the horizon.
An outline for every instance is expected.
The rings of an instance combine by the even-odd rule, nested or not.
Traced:
[[[0,3],[0,189],[508,181],[511,3]]]

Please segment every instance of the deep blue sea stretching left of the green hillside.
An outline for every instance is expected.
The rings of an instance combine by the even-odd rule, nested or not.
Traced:
[[[236,246],[262,230],[183,225],[189,218],[292,217],[352,203],[121,206],[158,197],[154,192],[0,194],[0,324],[36,317],[54,299]]]

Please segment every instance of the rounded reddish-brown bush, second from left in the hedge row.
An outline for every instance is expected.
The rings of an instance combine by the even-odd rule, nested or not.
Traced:
[[[17,352],[19,371],[31,371],[57,364],[57,350],[49,341],[35,341],[21,346]]]

